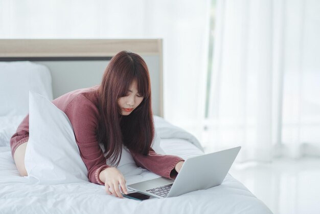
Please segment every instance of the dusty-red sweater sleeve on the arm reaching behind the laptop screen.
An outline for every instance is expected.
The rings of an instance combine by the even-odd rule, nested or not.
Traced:
[[[178,175],[174,169],[179,161],[184,159],[173,155],[159,155],[150,148],[148,155],[142,155],[131,151],[136,165],[148,169],[149,171],[169,179],[175,179]]]

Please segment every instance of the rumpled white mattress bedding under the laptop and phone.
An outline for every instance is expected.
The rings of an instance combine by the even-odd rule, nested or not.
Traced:
[[[167,154],[190,158],[202,152],[185,139],[162,139]],[[219,186],[178,197],[136,201],[107,195],[104,186],[83,182],[38,185],[20,177],[9,146],[0,146],[1,213],[271,213],[243,184],[227,175]],[[158,177],[140,168],[127,184]]]

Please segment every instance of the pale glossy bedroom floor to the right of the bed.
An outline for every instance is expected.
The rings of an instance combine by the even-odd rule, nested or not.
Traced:
[[[230,174],[273,213],[320,213],[320,159],[234,164]]]

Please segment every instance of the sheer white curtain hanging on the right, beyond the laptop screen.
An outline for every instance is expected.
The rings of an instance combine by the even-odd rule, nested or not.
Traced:
[[[238,161],[320,155],[320,2],[217,0],[209,139]]]

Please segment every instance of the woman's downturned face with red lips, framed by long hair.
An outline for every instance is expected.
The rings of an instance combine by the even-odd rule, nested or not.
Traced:
[[[133,80],[127,95],[118,99],[118,105],[121,108],[122,115],[129,115],[142,102],[143,97],[138,92],[136,81]]]

